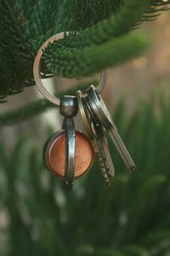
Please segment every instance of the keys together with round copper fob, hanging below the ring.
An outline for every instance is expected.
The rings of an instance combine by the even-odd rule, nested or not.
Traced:
[[[88,136],[75,130],[73,118],[78,109]],[[65,190],[71,190],[75,177],[81,177],[88,172],[94,155],[106,186],[110,185],[110,177],[114,177],[115,168],[105,133],[111,137],[127,169],[136,169],[111,119],[111,114],[94,85],[90,85],[85,94],[78,90],[77,96],[61,97],[59,111],[64,116],[63,130],[55,133],[45,143],[43,160],[49,171],[63,178]]]

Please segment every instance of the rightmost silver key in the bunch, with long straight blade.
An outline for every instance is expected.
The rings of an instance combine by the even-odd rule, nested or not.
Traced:
[[[111,140],[116,146],[117,151],[122,157],[122,160],[124,161],[125,165],[127,166],[127,169],[129,171],[136,170],[136,166],[130,156],[130,154],[127,151],[127,148],[125,147],[124,143],[122,142],[122,138],[119,136],[116,125],[113,123],[113,120],[111,119],[111,114],[109,113],[109,110],[105,106],[105,102],[99,96],[96,91],[94,85],[91,85],[87,91],[87,94],[85,96],[85,102],[88,106],[88,110],[96,120],[96,122],[99,122],[101,125],[105,127],[105,130],[108,131]]]

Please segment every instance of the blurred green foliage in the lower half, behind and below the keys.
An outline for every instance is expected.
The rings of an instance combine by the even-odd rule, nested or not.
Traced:
[[[170,253],[170,103],[162,94],[114,120],[138,171],[127,172],[111,141],[116,177],[106,189],[95,163],[70,194],[42,165],[42,145],[20,138],[6,154],[0,144],[1,210],[7,256],[160,256]],[[5,248],[5,249],[4,249]]]

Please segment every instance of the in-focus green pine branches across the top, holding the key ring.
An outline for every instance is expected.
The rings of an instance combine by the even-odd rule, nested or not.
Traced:
[[[142,35],[125,34],[145,20],[155,19],[157,11],[167,10],[169,3],[163,0],[1,1],[1,99],[34,84],[32,66],[37,49],[57,32],[79,33],[72,33],[47,51],[42,61],[44,77],[49,72],[80,77],[141,55],[148,47],[148,40]],[[121,51],[123,58],[117,54]],[[107,62],[108,53],[111,57]],[[55,66],[56,63],[59,64]]]

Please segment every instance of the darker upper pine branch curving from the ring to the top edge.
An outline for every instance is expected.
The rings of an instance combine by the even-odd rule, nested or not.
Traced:
[[[122,36],[133,30],[133,26],[141,19],[148,1],[128,0],[122,3],[119,12],[110,19],[99,21],[78,34],[72,32],[65,40],[60,41],[61,50],[82,49],[92,45],[104,44],[111,38]],[[133,11],[135,9],[135,12]],[[56,43],[57,44],[57,43]],[[105,53],[104,53],[105,54]]]

